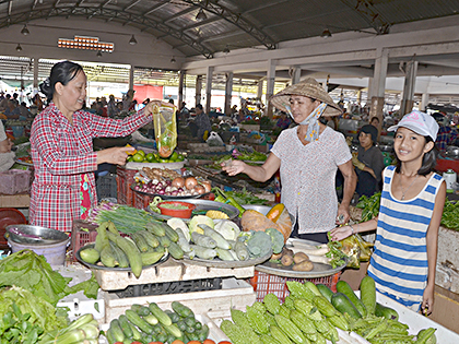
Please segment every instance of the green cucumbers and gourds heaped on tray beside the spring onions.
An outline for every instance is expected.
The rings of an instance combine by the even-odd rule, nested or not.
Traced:
[[[107,268],[131,268],[139,277],[142,268],[156,263],[166,250],[175,259],[184,258],[183,249],[177,245],[178,235],[170,226],[161,222],[150,222],[145,229],[122,237],[113,222],[105,222],[97,227],[93,247],[83,247],[80,258],[90,264]]]

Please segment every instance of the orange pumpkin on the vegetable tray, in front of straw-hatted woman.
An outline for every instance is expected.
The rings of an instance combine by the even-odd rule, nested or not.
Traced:
[[[286,210],[285,212],[289,215],[289,212]],[[280,233],[282,233],[285,242],[289,239],[290,234],[292,233],[292,221],[290,220],[290,215],[289,221],[286,221],[284,217],[285,215],[283,215],[282,213],[278,220],[278,223],[274,223],[260,212],[249,209],[244,212],[243,217],[240,218],[240,226],[243,227],[244,232],[264,232],[268,228],[275,228]]]

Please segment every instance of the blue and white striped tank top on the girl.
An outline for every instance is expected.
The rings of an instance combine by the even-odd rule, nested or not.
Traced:
[[[427,284],[425,236],[443,177],[433,174],[415,198],[399,201],[391,193],[395,170],[396,166],[384,170],[375,251],[368,275],[375,280],[379,293],[416,311]]]

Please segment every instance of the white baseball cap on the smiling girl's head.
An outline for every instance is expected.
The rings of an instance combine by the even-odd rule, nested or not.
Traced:
[[[413,110],[404,115],[398,124],[389,127],[387,131],[397,131],[400,127],[410,129],[423,137],[431,137],[434,142],[437,140],[438,124],[435,118],[425,112]]]

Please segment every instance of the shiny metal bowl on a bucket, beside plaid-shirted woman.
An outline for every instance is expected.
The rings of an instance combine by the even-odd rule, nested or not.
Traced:
[[[32,225],[9,225],[4,237],[17,244],[32,245],[57,244],[70,239],[63,232]]]

